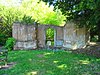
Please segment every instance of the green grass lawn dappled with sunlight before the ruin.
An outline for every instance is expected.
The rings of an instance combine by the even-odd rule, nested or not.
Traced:
[[[100,75],[100,58],[68,51],[11,51],[8,63],[12,62],[0,75]]]

